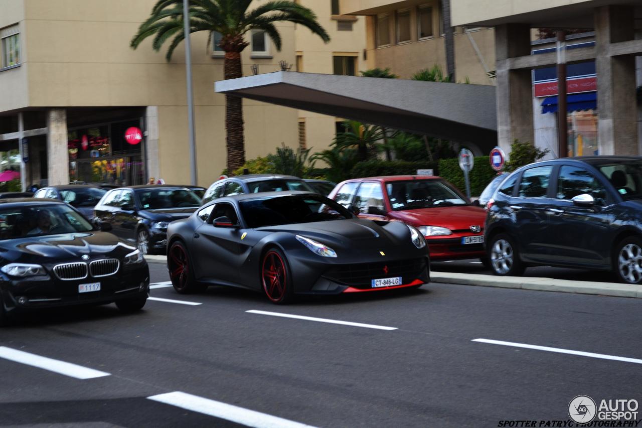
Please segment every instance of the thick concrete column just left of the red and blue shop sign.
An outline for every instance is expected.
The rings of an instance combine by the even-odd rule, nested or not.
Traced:
[[[523,24],[497,26],[495,46],[498,140],[499,147],[509,153],[514,139],[534,143],[530,71],[509,70],[505,61],[530,55],[530,28]]]

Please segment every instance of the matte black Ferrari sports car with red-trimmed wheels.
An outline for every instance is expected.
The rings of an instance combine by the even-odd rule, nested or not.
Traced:
[[[295,294],[339,294],[429,281],[424,237],[402,222],[360,219],[309,192],[216,199],[168,228],[168,269],[177,292],[229,285],[273,303]]]

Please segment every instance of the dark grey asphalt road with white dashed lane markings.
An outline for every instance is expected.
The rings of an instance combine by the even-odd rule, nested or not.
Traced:
[[[164,265],[150,267],[153,282],[167,281]],[[473,341],[642,359],[638,299],[433,283],[277,307],[245,290],[182,296],[159,285],[153,298],[198,304],[55,310],[0,330],[0,425],[496,427],[568,420],[581,394],[642,401],[642,360]],[[13,350],[39,367],[3,357]],[[95,376],[87,369],[103,374],[71,377]],[[196,396],[192,410],[182,393]]]

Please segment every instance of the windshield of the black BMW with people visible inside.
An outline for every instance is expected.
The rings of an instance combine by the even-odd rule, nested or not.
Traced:
[[[0,209],[0,240],[89,232],[92,229],[85,217],[65,204]]]

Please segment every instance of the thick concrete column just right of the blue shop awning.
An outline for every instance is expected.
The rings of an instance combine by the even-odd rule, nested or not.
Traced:
[[[611,57],[610,44],[634,39],[633,8],[595,9],[595,66],[601,155],[637,156],[638,105],[635,57]]]

